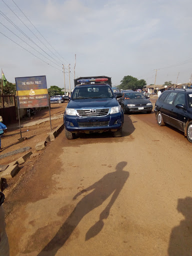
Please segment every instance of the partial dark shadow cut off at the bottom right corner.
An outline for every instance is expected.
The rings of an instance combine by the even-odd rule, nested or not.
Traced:
[[[185,217],[178,226],[172,228],[169,245],[169,256],[192,255],[192,197],[179,198],[177,210]]]

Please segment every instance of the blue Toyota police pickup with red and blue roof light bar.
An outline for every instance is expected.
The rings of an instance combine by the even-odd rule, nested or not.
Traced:
[[[112,131],[121,137],[123,112],[111,86],[87,79],[77,84],[64,112],[64,129],[67,139],[75,138],[77,132],[92,133]],[[80,80],[80,79],[79,79]]]

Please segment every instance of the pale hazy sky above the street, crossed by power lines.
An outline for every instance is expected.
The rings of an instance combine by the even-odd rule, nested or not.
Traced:
[[[0,0],[0,67],[10,82],[46,75],[47,87],[64,87],[64,64],[68,87],[70,64],[73,88],[76,54],[75,78],[189,82],[191,9],[191,0]]]

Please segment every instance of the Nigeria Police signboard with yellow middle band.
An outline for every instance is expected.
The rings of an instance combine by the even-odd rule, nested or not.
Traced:
[[[19,108],[48,106],[46,76],[15,77]]]

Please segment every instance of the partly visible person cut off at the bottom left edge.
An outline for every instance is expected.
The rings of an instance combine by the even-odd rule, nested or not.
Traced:
[[[5,230],[5,220],[4,220],[4,209],[2,203],[4,200],[4,194],[0,192],[0,255],[9,256],[9,245],[8,238]]]

